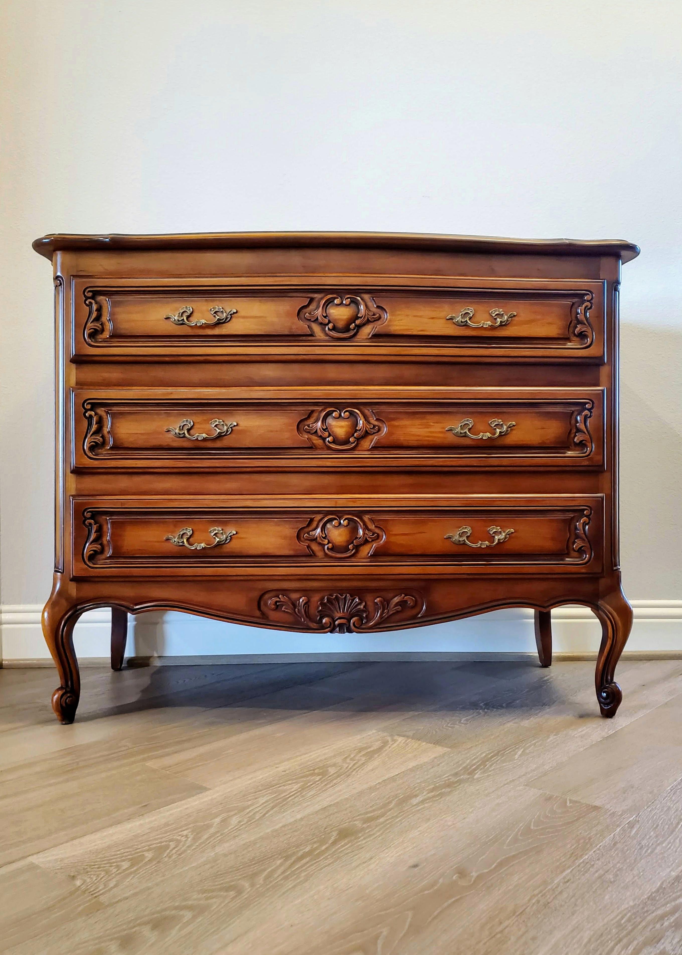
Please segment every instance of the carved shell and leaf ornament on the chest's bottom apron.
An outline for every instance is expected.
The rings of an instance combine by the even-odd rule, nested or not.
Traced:
[[[259,601],[261,613],[291,614],[300,626],[324,633],[351,633],[371,630],[397,613],[418,608],[424,611],[424,598],[412,594],[397,594],[394,597],[375,597],[374,611],[370,616],[365,600],[357,594],[333,593],[313,599],[305,594],[299,596],[284,593],[264,593]],[[272,617],[270,617],[272,619]]]

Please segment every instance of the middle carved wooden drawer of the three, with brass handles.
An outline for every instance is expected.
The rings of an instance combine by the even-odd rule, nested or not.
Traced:
[[[74,466],[599,467],[602,389],[73,393]],[[424,396],[427,394],[427,397]]]

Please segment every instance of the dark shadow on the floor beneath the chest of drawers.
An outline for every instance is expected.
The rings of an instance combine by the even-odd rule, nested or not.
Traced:
[[[593,663],[540,668],[531,661],[491,663],[263,664],[124,668],[88,688],[79,721],[145,710],[211,710],[232,722],[237,711],[538,711],[589,688]],[[127,677],[132,679],[128,680]],[[596,705],[596,704],[595,704]]]

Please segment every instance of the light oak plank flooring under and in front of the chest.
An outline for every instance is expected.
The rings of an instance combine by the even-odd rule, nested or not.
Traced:
[[[682,661],[0,670],[11,955],[680,955]]]

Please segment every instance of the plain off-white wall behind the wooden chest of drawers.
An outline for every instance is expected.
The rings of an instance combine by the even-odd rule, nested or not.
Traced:
[[[6,607],[31,613],[51,586],[52,282],[31,251],[50,231],[640,244],[622,288],[624,581],[637,600],[682,597],[679,0],[5,0],[0,15]],[[489,623],[437,643],[476,626],[486,648]],[[211,627],[188,627],[185,652],[266,639]]]

